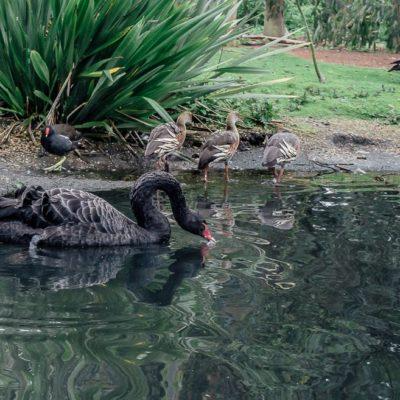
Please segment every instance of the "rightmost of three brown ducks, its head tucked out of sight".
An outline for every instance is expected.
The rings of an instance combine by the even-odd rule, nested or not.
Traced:
[[[295,160],[299,151],[300,139],[292,132],[278,132],[268,139],[262,165],[268,169],[273,169],[274,183],[280,183],[285,165]]]

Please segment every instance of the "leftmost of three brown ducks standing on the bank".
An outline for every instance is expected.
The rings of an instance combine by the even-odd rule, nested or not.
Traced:
[[[186,139],[186,125],[192,122],[192,113],[184,111],[178,116],[176,123],[168,122],[151,131],[144,156],[157,158],[156,169],[169,172],[168,156],[182,148]]]

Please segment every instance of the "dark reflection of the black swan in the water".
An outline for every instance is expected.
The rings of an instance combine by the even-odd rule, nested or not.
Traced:
[[[19,253],[27,263],[33,261],[35,268],[0,267],[0,276],[12,275],[22,289],[33,287],[42,290],[83,289],[106,285],[117,280],[132,292],[139,301],[168,305],[185,278],[195,277],[204,267],[209,247],[185,247],[171,252],[166,246],[143,248],[111,247],[88,249],[31,249]],[[28,260],[30,259],[30,260]],[[147,289],[158,272],[168,265],[170,274],[161,289]]]

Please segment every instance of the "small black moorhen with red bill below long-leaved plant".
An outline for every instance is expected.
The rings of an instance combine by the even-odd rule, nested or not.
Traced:
[[[40,139],[45,151],[60,156],[61,159],[54,165],[44,168],[46,172],[61,171],[67,155],[80,146],[81,134],[68,124],[47,125]]]

